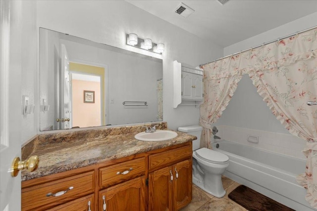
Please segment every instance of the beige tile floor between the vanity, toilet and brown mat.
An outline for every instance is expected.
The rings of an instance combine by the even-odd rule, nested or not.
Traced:
[[[226,195],[220,199],[193,185],[192,202],[180,211],[248,211],[228,198],[228,194],[240,184],[222,176],[222,185]]]

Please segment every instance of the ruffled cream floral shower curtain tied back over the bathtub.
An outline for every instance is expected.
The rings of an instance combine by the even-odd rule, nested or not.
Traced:
[[[306,173],[297,180],[307,188],[306,200],[317,208],[317,106],[306,104],[317,101],[317,29],[202,68],[206,84],[200,123],[206,128],[205,137],[210,135],[211,124],[228,105],[239,77],[249,74],[273,115],[291,134],[307,141],[303,150],[307,157]],[[221,82],[224,80],[226,85]],[[205,141],[205,146],[210,148],[209,141]]]

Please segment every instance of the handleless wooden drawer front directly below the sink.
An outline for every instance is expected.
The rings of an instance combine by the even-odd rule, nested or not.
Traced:
[[[176,162],[182,161],[186,158],[190,158],[192,155],[192,147],[184,146],[178,149],[169,150],[167,152],[161,152],[155,155],[149,156],[149,171],[166,167]]]

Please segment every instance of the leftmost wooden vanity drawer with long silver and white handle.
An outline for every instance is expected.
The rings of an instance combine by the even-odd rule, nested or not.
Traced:
[[[47,196],[49,193],[61,193],[59,196]],[[80,198],[95,191],[95,171],[66,177],[56,181],[22,189],[22,211],[46,210],[65,202]],[[58,195],[58,194],[57,194]],[[35,209],[36,208],[36,209]]]

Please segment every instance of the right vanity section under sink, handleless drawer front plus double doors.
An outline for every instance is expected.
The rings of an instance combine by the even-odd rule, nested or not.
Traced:
[[[191,154],[190,144],[149,156],[149,211],[177,211],[191,202]]]

